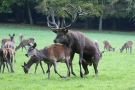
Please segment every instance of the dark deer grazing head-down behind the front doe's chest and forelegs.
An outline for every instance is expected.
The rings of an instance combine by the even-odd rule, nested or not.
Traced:
[[[25,74],[28,73],[30,67],[31,67],[34,63],[36,63],[35,72],[34,72],[34,73],[36,73],[36,70],[37,70],[37,67],[38,67],[38,64],[39,64],[39,63],[40,63],[40,66],[41,66],[41,68],[42,68],[43,73],[45,73],[45,72],[44,72],[44,69],[43,69],[43,66],[42,66],[42,63],[41,63],[41,60],[39,60],[39,58],[37,58],[36,56],[32,56],[32,57],[29,59],[29,61],[28,61],[27,63],[24,62],[24,65],[22,65]]]

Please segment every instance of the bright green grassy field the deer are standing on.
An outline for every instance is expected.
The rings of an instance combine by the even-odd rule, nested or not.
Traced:
[[[76,77],[71,75],[69,78],[60,78],[51,68],[50,80],[47,74],[43,74],[40,66],[37,73],[34,74],[33,65],[28,74],[25,74],[21,65],[27,62],[29,58],[25,56],[26,51],[19,49],[16,52],[16,63],[14,65],[15,73],[9,73],[5,69],[5,73],[0,74],[1,90],[135,90],[135,44],[133,44],[132,53],[120,53],[119,48],[127,40],[135,41],[135,32],[112,32],[112,31],[81,31],[91,40],[100,42],[100,50],[103,51],[103,40],[108,40],[115,52],[105,51],[103,58],[98,65],[98,77],[94,77],[94,69],[89,66],[90,73],[84,78],[80,78],[78,54],[73,60],[74,71]],[[46,28],[32,26],[10,26],[0,25],[0,38],[9,38],[8,34],[15,33],[15,45],[19,45],[19,33],[24,38],[34,37],[36,39],[37,48],[42,49],[44,46],[53,44],[55,33]],[[43,63],[44,70],[47,65]],[[64,63],[57,64],[58,72],[66,75],[67,68]]]

